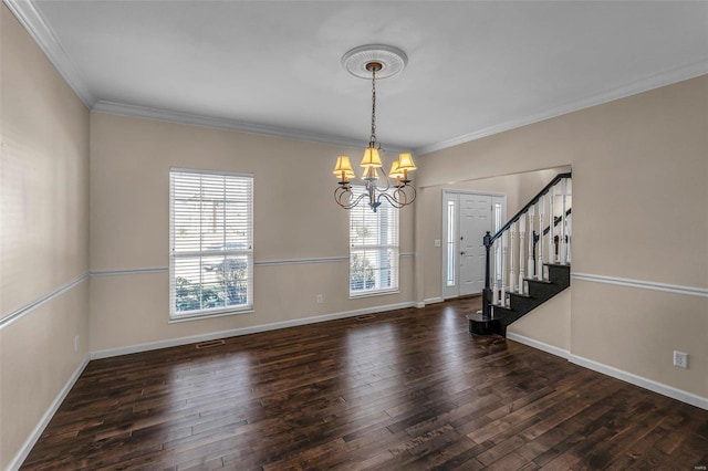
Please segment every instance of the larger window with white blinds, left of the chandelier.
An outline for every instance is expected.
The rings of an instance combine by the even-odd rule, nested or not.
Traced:
[[[253,308],[253,177],[169,172],[170,318]]]

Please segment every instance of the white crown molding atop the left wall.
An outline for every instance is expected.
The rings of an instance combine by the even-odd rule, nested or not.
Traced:
[[[81,72],[69,57],[64,48],[59,43],[52,29],[46,24],[40,12],[31,0],[2,0],[18,19],[20,24],[30,33],[32,39],[40,46],[44,55],[56,67],[60,75],[66,81],[69,86],[79,95],[79,98],[88,109],[94,105],[96,98],[86,86]]]

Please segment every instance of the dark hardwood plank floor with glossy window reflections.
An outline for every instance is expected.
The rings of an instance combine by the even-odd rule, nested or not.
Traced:
[[[24,469],[706,469],[708,411],[471,336],[479,304],[93,360]]]

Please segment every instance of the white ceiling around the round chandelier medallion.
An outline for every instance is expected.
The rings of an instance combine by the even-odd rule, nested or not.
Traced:
[[[94,109],[418,154],[708,73],[706,1],[4,0]]]

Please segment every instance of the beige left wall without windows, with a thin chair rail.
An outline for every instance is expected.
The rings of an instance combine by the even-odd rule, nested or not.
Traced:
[[[0,15],[6,469],[88,354],[88,112],[4,4]],[[7,322],[20,311],[24,315]]]

